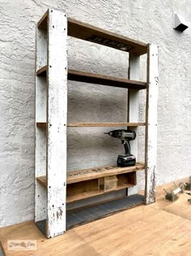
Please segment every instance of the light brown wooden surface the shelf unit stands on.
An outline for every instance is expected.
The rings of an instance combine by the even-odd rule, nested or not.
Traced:
[[[191,198],[181,194],[176,202],[163,200],[157,189],[157,202],[138,206],[116,215],[85,224],[47,240],[30,222],[1,228],[0,241],[6,255],[35,256],[166,256],[191,255]],[[37,241],[36,251],[8,251],[9,239]]]

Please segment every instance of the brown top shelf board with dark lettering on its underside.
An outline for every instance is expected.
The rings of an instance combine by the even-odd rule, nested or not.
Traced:
[[[45,13],[42,19],[38,22],[38,28],[47,29],[49,11]],[[147,44],[129,37],[123,37],[106,31],[102,28],[85,24],[78,20],[68,18],[68,36],[76,37],[85,41],[91,41],[103,46],[112,47],[125,52],[132,52],[138,55],[147,53]]]

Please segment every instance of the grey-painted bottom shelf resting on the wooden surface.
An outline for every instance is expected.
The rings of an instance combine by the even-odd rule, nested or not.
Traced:
[[[73,210],[66,214],[66,229],[74,228],[96,219],[102,219],[119,211],[127,210],[144,203],[144,197],[134,194],[129,197],[104,202],[100,205],[87,207],[81,210]],[[45,234],[46,220],[36,222],[36,226]]]

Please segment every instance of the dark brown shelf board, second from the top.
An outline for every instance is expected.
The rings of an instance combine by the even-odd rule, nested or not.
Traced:
[[[36,71],[36,76],[46,76],[47,68],[47,65],[41,67]],[[146,89],[146,82],[117,78],[114,76],[104,76],[91,72],[81,72],[71,69],[68,70],[68,80],[74,80],[94,85],[107,85],[125,89]]]

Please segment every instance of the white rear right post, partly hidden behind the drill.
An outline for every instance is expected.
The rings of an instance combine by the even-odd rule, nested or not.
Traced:
[[[140,78],[140,56],[138,54],[129,54],[129,79],[139,80]],[[139,90],[128,90],[128,122],[138,123],[139,113]],[[137,138],[134,141],[130,141],[131,153],[135,155],[138,160],[138,128],[132,128],[137,133]],[[128,189],[128,195],[137,193],[137,186]]]

